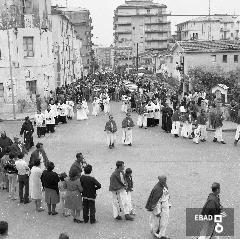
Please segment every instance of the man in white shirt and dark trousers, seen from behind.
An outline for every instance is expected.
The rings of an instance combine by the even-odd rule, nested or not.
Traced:
[[[20,203],[29,203],[29,173],[30,169],[23,159],[23,154],[18,155],[18,160],[15,162],[16,169],[18,171],[18,183],[19,183],[19,198]],[[23,188],[25,189],[23,197]]]

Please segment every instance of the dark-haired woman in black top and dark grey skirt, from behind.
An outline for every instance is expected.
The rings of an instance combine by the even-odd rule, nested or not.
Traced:
[[[57,215],[56,205],[59,203],[58,182],[60,181],[58,174],[53,172],[55,165],[49,162],[47,170],[43,171],[41,181],[45,190],[45,202],[48,206],[48,215]]]

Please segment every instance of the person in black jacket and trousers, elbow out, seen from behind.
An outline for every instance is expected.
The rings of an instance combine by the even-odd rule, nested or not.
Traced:
[[[82,198],[83,198],[83,220],[85,223],[89,221],[89,211],[90,211],[90,223],[96,223],[95,213],[95,199],[96,190],[101,188],[101,184],[92,176],[92,166],[87,165],[84,168],[84,175],[81,176],[80,181],[83,188]]]

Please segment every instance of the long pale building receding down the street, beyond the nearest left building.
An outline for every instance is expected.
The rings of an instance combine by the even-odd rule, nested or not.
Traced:
[[[82,42],[63,11],[52,7],[51,18],[56,86],[62,86],[82,77]]]

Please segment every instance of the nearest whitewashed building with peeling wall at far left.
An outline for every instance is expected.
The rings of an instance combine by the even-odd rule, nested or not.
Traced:
[[[4,2],[0,1],[0,108],[8,112],[12,93],[18,106],[21,101],[34,101],[36,94],[47,97],[55,81],[50,0]]]

